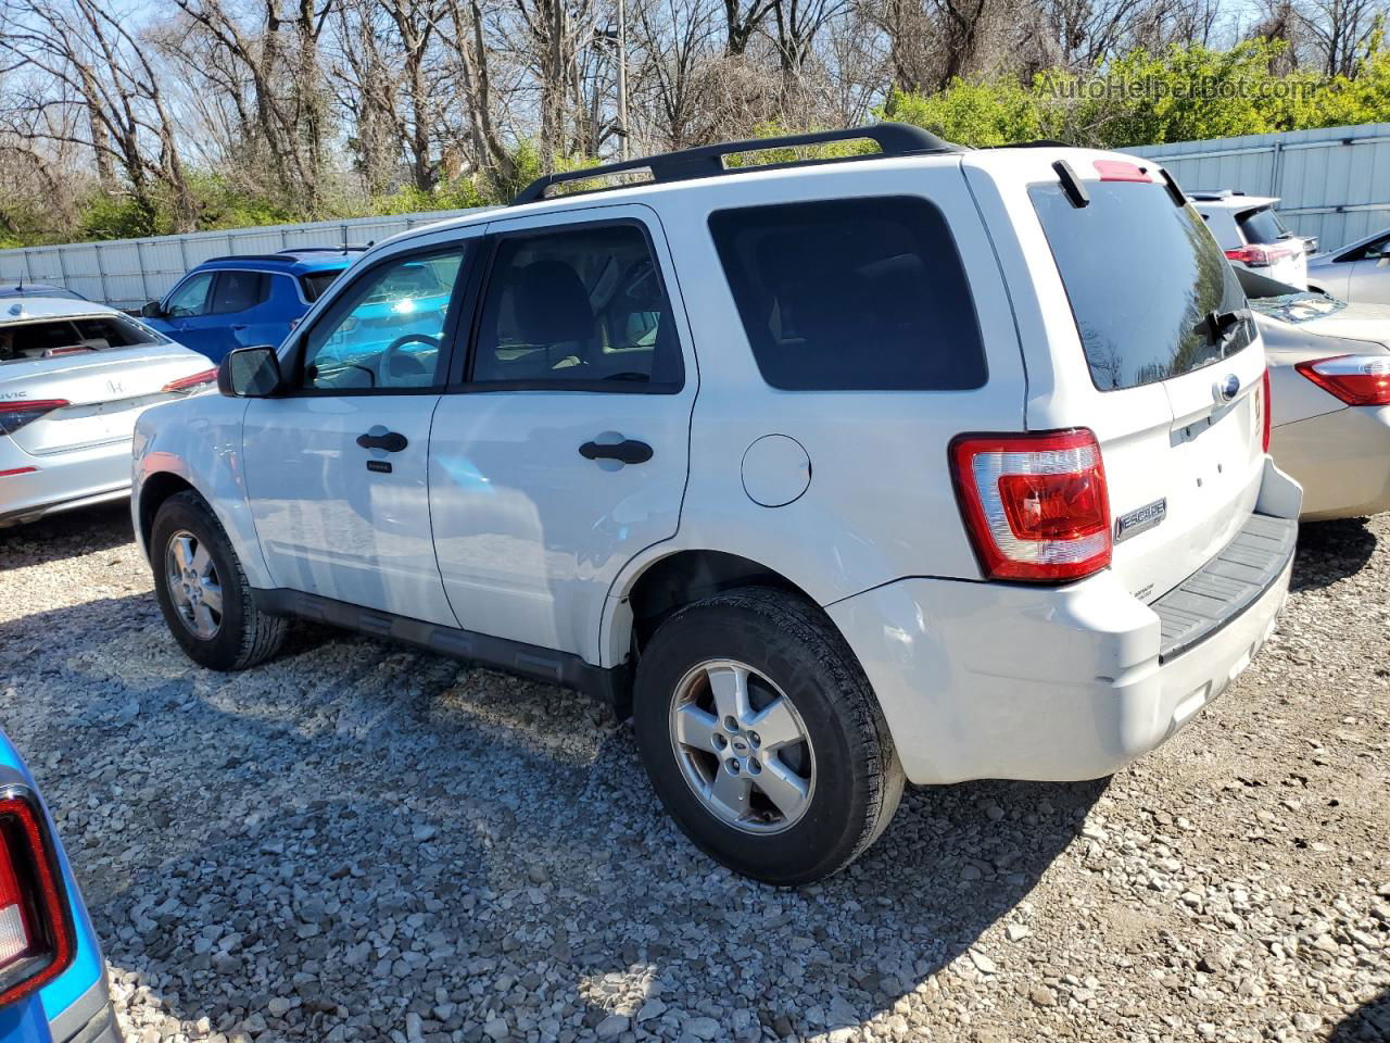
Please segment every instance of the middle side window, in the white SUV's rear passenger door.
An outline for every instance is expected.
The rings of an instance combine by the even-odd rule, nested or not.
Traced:
[[[642,229],[610,224],[498,245],[471,380],[584,391],[677,391],[680,341]]]

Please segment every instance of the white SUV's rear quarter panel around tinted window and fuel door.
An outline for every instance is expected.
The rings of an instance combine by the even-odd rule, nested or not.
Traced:
[[[708,225],[714,210],[863,196],[922,196],[945,214],[986,345],[988,378],[974,391],[781,391],[758,369]],[[619,576],[610,613],[655,559],[717,549],[774,569],[828,605],[903,576],[979,579],[948,466],[967,431],[1017,431],[1026,377],[1009,293],[959,159],[878,160],[808,168],[788,178],[745,174],[644,199],[657,210],[695,331],[699,396],[689,484],[677,535]],[[960,302],[969,306],[969,302]],[[810,484],[767,508],[745,491],[742,460],[769,434],[810,458]],[[605,629],[605,662],[626,654]]]

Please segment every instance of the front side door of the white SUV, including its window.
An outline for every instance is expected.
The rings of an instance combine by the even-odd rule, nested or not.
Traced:
[[[275,584],[455,626],[430,533],[430,421],[457,324],[457,234],[357,273],[252,399],[247,494]]]

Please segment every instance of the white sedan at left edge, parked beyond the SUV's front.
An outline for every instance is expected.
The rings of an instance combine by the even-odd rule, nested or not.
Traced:
[[[135,420],[215,380],[204,356],[113,307],[0,302],[0,527],[129,495]]]

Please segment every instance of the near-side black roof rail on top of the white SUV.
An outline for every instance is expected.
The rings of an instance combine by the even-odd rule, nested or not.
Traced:
[[[872,140],[878,145],[878,153],[870,153],[866,156],[847,156],[835,157],[830,160],[801,160],[796,163],[774,163],[764,164],[759,167],[726,167],[726,156],[737,156],[742,152],[769,152],[771,149],[792,149],[803,145],[826,145],[830,142],[852,142],[852,140]],[[774,170],[780,167],[799,167],[812,163],[835,163],[837,160],[855,159],[885,159],[890,156],[931,156],[938,153],[962,152],[959,145],[952,145],[951,142],[941,140],[930,131],[923,131],[920,127],[913,127],[912,124],[873,124],[872,127],[851,127],[842,131],[816,131],[812,134],[792,134],[783,138],[755,138],[745,142],[724,142],[721,145],[702,145],[695,149],[681,149],[680,152],[667,152],[659,156],[646,156],[639,160],[627,160],[626,163],[605,163],[600,167],[588,167],[585,170],[571,170],[563,174],[546,174],[537,178],[524,189],[521,189],[516,199],[512,200],[512,206],[520,206],[523,203],[534,203],[538,199],[545,199],[546,189],[553,185],[562,185],[567,181],[589,181],[592,178],[603,178],[612,174],[626,174],[632,170],[649,170],[652,172],[651,182],[642,184],[664,184],[670,181],[691,181],[695,178],[710,178],[719,174],[737,174],[744,170]],[[626,188],[626,185],[613,185],[612,188],[592,189],[596,192],[609,192],[616,188]]]

